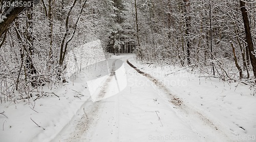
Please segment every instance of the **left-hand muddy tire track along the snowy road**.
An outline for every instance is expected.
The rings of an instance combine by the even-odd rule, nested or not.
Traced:
[[[104,94],[106,92],[106,89],[108,89],[109,82],[112,80],[112,78],[115,76],[115,63],[118,59],[114,60],[112,63],[111,68],[111,74],[109,77],[105,80],[105,82],[102,85],[102,88],[99,92],[98,99],[103,98]],[[100,99],[101,100],[101,99]],[[103,103],[104,105],[105,103]],[[100,112],[100,108],[102,108],[102,102],[92,102],[91,97],[87,99],[87,101],[82,105],[83,110],[79,110],[75,116],[73,116],[73,119],[70,121],[69,124],[67,124],[59,133],[58,135],[51,141],[91,141],[90,138],[86,137],[84,139],[83,135],[90,129],[90,127],[96,125],[98,123],[98,119],[102,112]],[[103,110],[103,109],[101,109]],[[95,117],[96,116],[96,117]],[[74,129],[71,133],[69,132],[70,129]],[[90,129],[91,132],[89,135],[93,136],[94,131]]]

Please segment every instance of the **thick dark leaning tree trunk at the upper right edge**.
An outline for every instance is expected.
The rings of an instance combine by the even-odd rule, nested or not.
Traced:
[[[250,21],[248,18],[248,13],[247,13],[247,9],[245,7],[244,1],[240,1],[240,8],[241,8],[242,16],[243,16],[243,21],[244,21],[246,42],[247,42],[247,46],[248,46],[253,75],[254,75],[254,77],[256,77],[256,57],[254,55],[255,53],[254,53],[253,41],[252,41],[252,37],[251,37]]]

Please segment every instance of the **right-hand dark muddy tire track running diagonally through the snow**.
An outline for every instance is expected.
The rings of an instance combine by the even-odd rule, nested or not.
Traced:
[[[216,134],[218,134],[218,136],[215,136],[216,138],[225,138],[228,141],[233,141],[231,139],[228,138],[228,136],[223,132],[223,130],[220,130],[216,124],[214,124],[211,120],[209,120],[206,116],[204,116],[202,113],[200,113],[199,111],[188,107],[186,104],[183,103],[182,99],[178,98],[176,95],[172,94],[170,92],[170,90],[158,79],[154,78],[153,76],[142,72],[140,69],[138,69],[136,66],[134,66],[132,63],[129,62],[129,60],[126,60],[127,64],[129,64],[132,68],[134,68],[136,70],[136,72],[138,72],[139,74],[145,76],[147,79],[149,79],[150,81],[152,81],[160,90],[163,90],[164,93],[168,94],[168,97],[170,97],[170,103],[174,104],[175,106],[177,106],[176,108],[179,108],[181,110],[181,112],[185,113],[185,115],[189,115],[189,116],[196,116],[194,118],[195,121],[201,122],[201,124],[206,124],[207,126],[209,126],[213,131],[216,132]],[[160,96],[160,95],[159,95]],[[160,96],[161,97],[161,96]],[[184,117],[185,118],[185,117]],[[186,118],[185,118],[186,119]],[[191,121],[193,123],[193,121]],[[191,124],[192,124],[191,123]],[[193,126],[191,126],[193,127]],[[194,126],[197,127],[197,126]],[[193,128],[195,129],[195,128]],[[200,135],[200,134],[199,134]],[[203,136],[203,135],[202,135]]]

